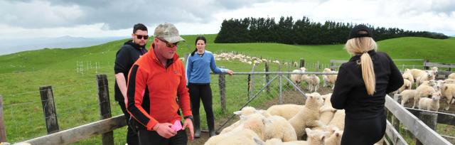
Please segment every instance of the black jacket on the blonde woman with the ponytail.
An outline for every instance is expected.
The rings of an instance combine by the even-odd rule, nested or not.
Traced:
[[[373,96],[368,95],[363,82],[362,68],[357,64],[360,55],[343,63],[338,71],[335,89],[331,97],[333,108],[345,109],[349,119],[370,119],[384,112],[385,95],[403,85],[403,77],[386,53],[368,51],[373,60],[376,87]]]

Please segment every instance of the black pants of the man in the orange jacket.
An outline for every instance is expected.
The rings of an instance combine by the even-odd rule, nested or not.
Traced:
[[[139,144],[141,145],[181,145],[187,144],[188,136],[184,130],[177,131],[175,136],[169,139],[160,136],[156,131],[139,129]]]

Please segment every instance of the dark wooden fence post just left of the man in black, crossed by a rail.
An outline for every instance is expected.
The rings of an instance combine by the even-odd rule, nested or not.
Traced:
[[[106,74],[97,74],[98,100],[100,103],[100,119],[112,117],[111,104],[109,102],[109,86]],[[114,144],[114,131],[102,134],[102,144]]]

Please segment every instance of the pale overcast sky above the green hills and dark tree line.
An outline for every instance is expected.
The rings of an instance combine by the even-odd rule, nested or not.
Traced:
[[[0,0],[0,38],[129,36],[135,23],[218,33],[224,19],[303,16],[455,36],[454,0]]]

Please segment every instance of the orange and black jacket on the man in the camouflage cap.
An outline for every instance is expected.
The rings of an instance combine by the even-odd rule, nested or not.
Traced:
[[[181,120],[180,107],[184,117],[192,115],[182,61],[175,54],[163,66],[153,47],[129,70],[126,102],[129,114],[150,131],[157,123]]]

